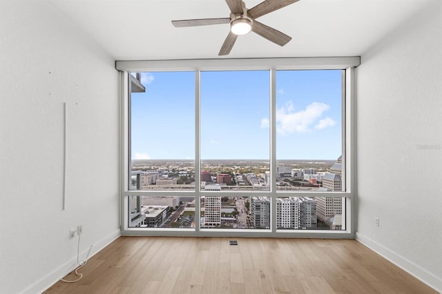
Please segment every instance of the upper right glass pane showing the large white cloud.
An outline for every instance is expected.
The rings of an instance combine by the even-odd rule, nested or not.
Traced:
[[[277,190],[345,190],[342,94],[342,70],[276,72]]]

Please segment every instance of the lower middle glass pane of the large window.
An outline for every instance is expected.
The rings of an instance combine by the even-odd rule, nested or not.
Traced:
[[[270,199],[205,195],[201,198],[201,228],[269,229]]]

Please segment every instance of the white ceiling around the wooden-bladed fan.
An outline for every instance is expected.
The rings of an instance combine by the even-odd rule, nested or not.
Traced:
[[[218,57],[229,24],[175,28],[171,20],[229,17],[224,0],[49,0],[116,60],[359,56],[431,0],[300,0],[258,21],[293,39],[254,34]],[[262,0],[246,0],[252,8]]]

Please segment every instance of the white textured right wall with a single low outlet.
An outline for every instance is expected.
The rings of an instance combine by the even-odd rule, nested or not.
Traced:
[[[366,52],[357,68],[356,236],[439,291],[441,19],[442,1],[434,1]]]

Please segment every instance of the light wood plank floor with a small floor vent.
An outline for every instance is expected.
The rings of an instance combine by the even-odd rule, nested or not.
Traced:
[[[352,239],[119,237],[79,273],[45,293],[436,293]]]

